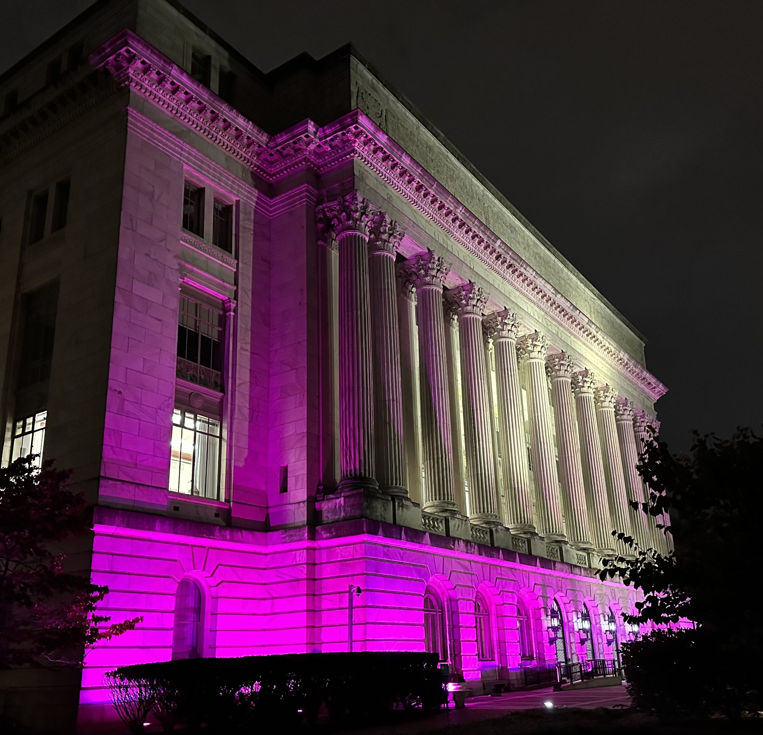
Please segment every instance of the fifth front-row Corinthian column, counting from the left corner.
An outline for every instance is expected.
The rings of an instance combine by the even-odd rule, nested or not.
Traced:
[[[530,468],[524,434],[522,388],[517,363],[517,314],[497,311],[485,319],[493,339],[495,378],[498,394],[498,427],[501,437],[507,524],[513,534],[535,532],[533,494],[530,491]]]

